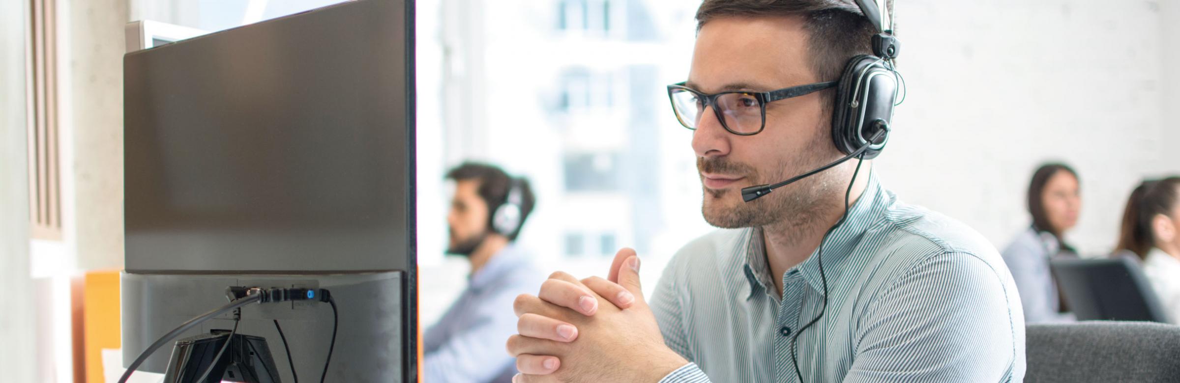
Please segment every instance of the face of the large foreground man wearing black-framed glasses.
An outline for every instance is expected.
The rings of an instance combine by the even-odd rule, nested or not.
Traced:
[[[795,16],[721,18],[706,22],[696,38],[688,87],[712,94],[766,92],[831,81],[808,65],[808,33]],[[754,136],[729,133],[712,106],[693,133],[697,170],[704,190],[704,220],[719,227],[762,226],[814,214],[819,196],[843,186],[833,169],[746,203],[741,189],[773,184],[839,156],[831,143],[831,115],[817,92],[766,105],[766,127]],[[846,183],[846,180],[844,181]]]

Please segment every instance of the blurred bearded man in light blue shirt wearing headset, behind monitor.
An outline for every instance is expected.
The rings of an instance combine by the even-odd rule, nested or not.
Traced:
[[[467,288],[424,335],[426,382],[509,382],[516,369],[503,339],[516,332],[512,299],[537,291],[544,275],[512,245],[535,199],[529,181],[499,167],[465,163],[447,172],[454,196],[447,252],[471,263]]]

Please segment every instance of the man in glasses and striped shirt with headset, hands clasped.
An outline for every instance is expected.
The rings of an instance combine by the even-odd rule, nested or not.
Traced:
[[[1023,379],[999,255],[872,171],[904,93],[884,2],[702,2],[669,97],[722,230],[676,253],[650,303],[630,249],[605,279],[555,272],[517,297],[517,382]]]

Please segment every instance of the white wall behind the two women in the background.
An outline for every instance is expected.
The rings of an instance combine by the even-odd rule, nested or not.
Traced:
[[[1175,58],[1178,35],[1171,27],[1165,40],[1156,2],[911,0],[897,13],[911,93],[878,170],[904,200],[1003,247],[1029,224],[1032,170],[1063,160],[1083,193],[1068,239],[1093,255],[1114,245],[1141,177],[1180,172],[1161,101],[1163,51]]]

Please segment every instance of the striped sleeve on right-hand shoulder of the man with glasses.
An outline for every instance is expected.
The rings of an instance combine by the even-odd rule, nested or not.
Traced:
[[[1020,382],[1024,323],[1005,275],[969,253],[916,265],[860,316],[844,382]]]

